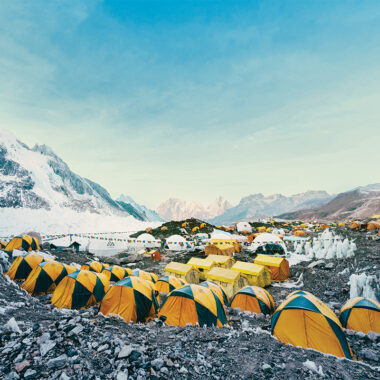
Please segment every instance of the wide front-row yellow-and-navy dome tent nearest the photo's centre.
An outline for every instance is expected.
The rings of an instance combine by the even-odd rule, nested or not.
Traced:
[[[170,326],[199,324],[210,327],[228,323],[223,304],[215,293],[194,284],[169,293],[158,316]]]

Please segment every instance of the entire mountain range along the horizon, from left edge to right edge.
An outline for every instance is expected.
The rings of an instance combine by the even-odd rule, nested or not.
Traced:
[[[233,206],[219,196],[211,204],[169,198],[157,210],[136,203],[127,195],[112,199],[99,184],[73,173],[46,145],[29,148],[0,130],[0,207],[4,209],[74,210],[92,214],[161,222],[195,217],[216,225],[257,217],[339,220],[380,213],[380,184],[329,195],[307,191],[291,196],[261,193],[243,197]],[[57,211],[58,210],[58,211]],[[8,215],[8,214],[7,214]]]

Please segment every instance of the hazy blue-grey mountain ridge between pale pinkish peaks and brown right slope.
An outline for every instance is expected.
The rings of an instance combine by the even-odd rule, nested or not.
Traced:
[[[211,219],[211,223],[226,224],[258,216],[274,216],[288,211],[321,206],[331,198],[332,196],[325,191],[307,191],[289,197],[282,194],[268,196],[261,193],[252,194],[242,198],[237,206]]]

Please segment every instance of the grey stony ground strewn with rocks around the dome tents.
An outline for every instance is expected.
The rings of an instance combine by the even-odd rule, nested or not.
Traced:
[[[334,311],[349,297],[350,274],[379,274],[380,242],[363,239],[363,233],[350,236],[357,238],[354,258],[327,260],[312,268],[305,262],[291,269],[291,280],[302,274],[301,289]],[[56,255],[67,263],[91,259],[74,253]],[[160,272],[164,263],[143,258],[136,265]],[[278,305],[295,289],[268,290]],[[349,361],[278,342],[270,335],[269,317],[262,315],[230,310],[230,326],[224,328],[169,327],[160,321],[129,325],[98,315],[97,307],[53,309],[49,298],[30,297],[0,276],[0,378],[380,379],[380,336],[372,333],[347,331],[357,358]]]

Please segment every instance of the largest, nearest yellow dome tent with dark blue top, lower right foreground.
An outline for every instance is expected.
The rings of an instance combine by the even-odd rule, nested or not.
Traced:
[[[272,317],[272,335],[285,344],[353,359],[337,316],[309,294],[295,294],[282,302]]]

